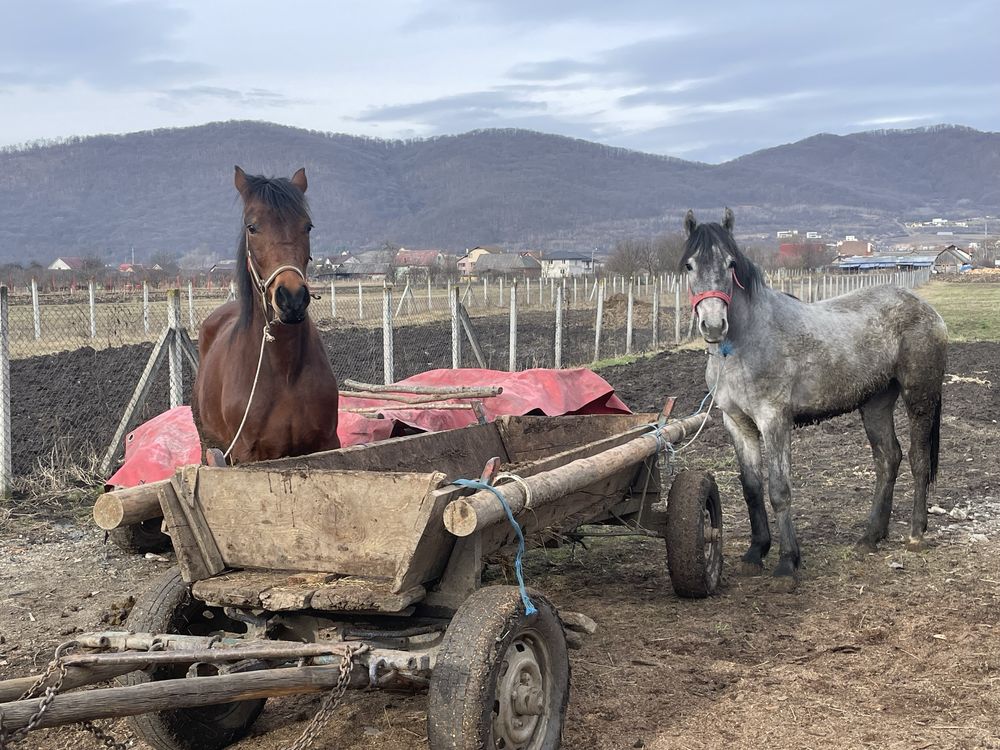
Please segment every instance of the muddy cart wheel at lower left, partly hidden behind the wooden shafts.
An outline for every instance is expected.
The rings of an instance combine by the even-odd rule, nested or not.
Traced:
[[[221,631],[244,633],[246,627],[231,620],[218,607],[209,607],[191,596],[191,589],[175,567],[163,574],[129,615],[126,626],[136,632],[213,635]],[[132,672],[128,685],[184,677],[187,666],[164,665]],[[219,750],[244,737],[264,709],[265,700],[225,703],[201,708],[140,714],[129,719],[132,730],[156,750]]]

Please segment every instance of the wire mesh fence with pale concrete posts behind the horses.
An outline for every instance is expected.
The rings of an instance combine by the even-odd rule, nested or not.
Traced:
[[[805,301],[863,285],[915,286],[926,272],[772,280]],[[575,367],[680,343],[693,321],[683,279],[490,278],[386,285],[314,280],[310,314],[338,380],[392,382],[436,368]],[[166,290],[93,285],[41,293],[2,287],[0,496],[103,481],[123,412],[168,325]],[[234,294],[178,290],[191,335]],[[168,408],[168,372],[155,375],[133,426]],[[189,403],[191,368],[184,366]],[[119,446],[120,447],[120,446]],[[120,451],[114,453],[120,455]]]

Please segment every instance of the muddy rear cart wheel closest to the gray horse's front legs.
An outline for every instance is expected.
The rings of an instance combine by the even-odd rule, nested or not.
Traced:
[[[682,471],[667,495],[667,566],[678,596],[701,599],[722,578],[722,505],[715,478]]]

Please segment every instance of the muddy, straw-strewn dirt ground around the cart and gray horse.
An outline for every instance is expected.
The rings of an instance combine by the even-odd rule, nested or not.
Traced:
[[[636,410],[673,394],[684,414],[704,393],[703,368],[704,354],[689,351],[602,374]],[[805,567],[795,593],[736,571],[748,523],[718,423],[677,458],[711,469],[722,491],[727,567],[716,596],[678,599],[658,540],[531,553],[529,584],[600,628],[570,652],[563,747],[1000,748],[1000,345],[953,345],[948,373],[924,553],[903,548],[905,463],[890,538],[876,554],[853,551],[874,481],[857,415],[796,434],[793,512]],[[897,419],[905,449],[902,412]],[[129,596],[168,565],[103,545],[86,520],[7,524],[0,676],[44,666],[76,629],[116,624]],[[270,702],[237,747],[288,745],[318,703]],[[421,694],[351,694],[317,747],[425,748],[425,709]],[[24,746],[58,747],[67,731],[37,733]]]

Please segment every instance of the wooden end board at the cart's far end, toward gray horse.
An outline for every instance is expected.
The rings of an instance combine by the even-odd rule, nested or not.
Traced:
[[[547,471],[550,465],[560,465],[567,460],[586,458],[626,443],[639,434],[652,429],[647,425],[656,421],[655,414],[586,414],[552,417],[503,417],[497,424],[511,463],[542,462],[542,468],[531,473]],[[573,458],[567,459],[567,454]]]

